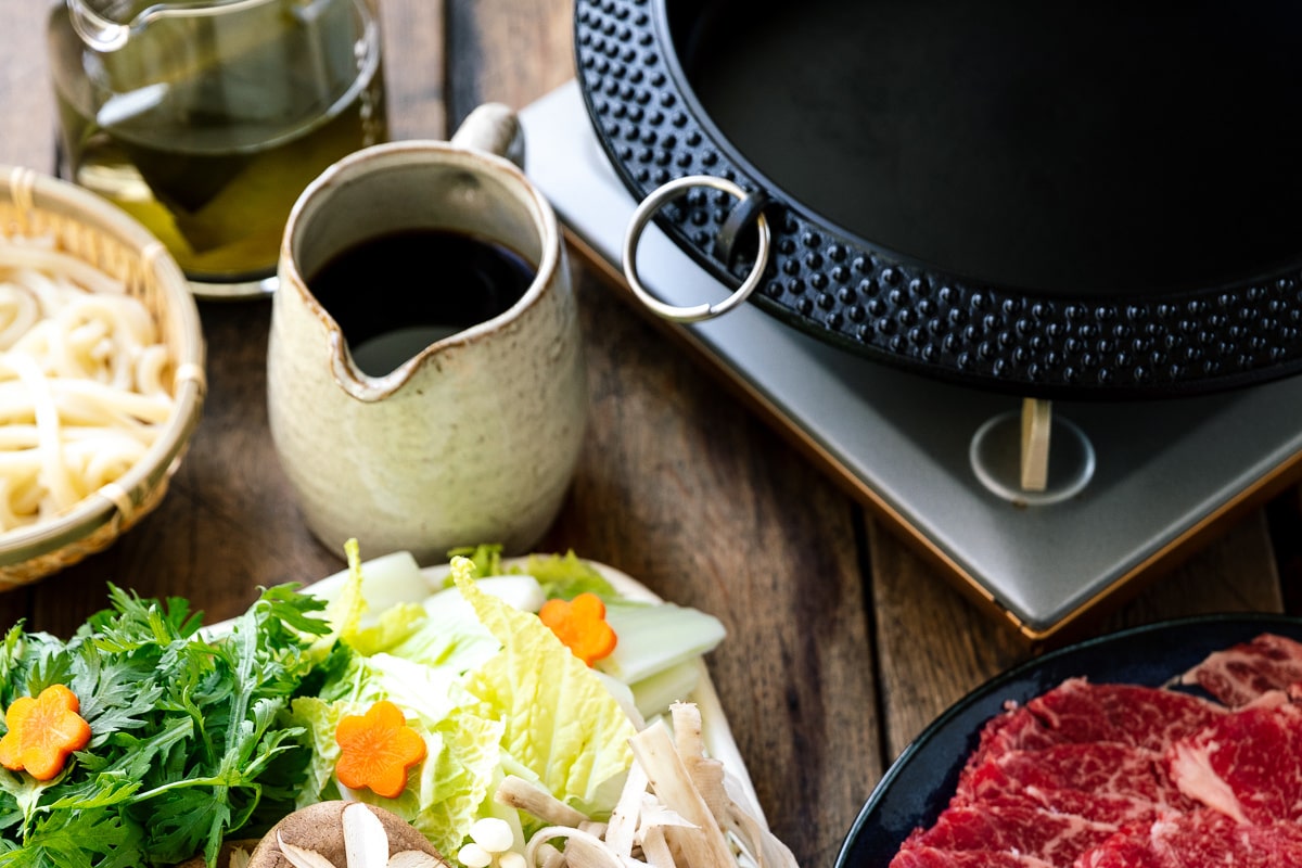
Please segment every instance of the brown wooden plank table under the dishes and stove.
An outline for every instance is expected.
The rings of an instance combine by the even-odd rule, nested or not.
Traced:
[[[53,168],[43,4],[0,0],[0,163]],[[566,0],[383,0],[396,137],[444,137],[483,100],[523,107],[573,77]],[[574,549],[721,617],[724,709],[777,834],[832,864],[891,760],[1027,648],[953,592],[780,433],[575,262],[591,423],[540,548]],[[204,419],[167,500],[108,552],[0,597],[0,623],[66,635],[104,583],[184,595],[208,619],[258,586],[341,566],[305,530],[267,428],[270,303],[204,303]],[[1302,418],[1302,414],[1299,414]],[[1191,471],[1194,471],[1191,468]],[[1302,496],[1240,519],[1095,631],[1217,610],[1302,609]]]

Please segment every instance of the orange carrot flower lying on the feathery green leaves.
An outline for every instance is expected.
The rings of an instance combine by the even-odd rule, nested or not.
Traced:
[[[81,701],[62,685],[51,685],[36,699],[20,696],[4,721],[0,765],[48,781],[64,770],[73,751],[90,743],[90,724],[78,714]]]

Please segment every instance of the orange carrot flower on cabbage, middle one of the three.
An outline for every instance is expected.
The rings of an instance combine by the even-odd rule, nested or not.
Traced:
[[[350,790],[370,787],[396,799],[406,789],[408,770],[424,759],[424,739],[406,724],[402,709],[381,699],[365,714],[345,714],[335,729],[340,756],[335,774]]]

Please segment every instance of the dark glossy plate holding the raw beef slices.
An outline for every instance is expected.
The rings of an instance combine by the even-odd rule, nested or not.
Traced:
[[[1008,700],[1025,703],[1068,678],[1165,685],[1213,651],[1262,632],[1302,640],[1302,618],[1203,616],[1125,630],[1049,652],[993,678],[950,707],[892,764],[841,847],[836,868],[885,868],[917,826],[949,803],[980,729]]]

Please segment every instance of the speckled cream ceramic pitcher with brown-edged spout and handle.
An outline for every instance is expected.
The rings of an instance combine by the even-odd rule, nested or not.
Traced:
[[[578,310],[556,215],[516,163],[514,116],[477,109],[452,142],[392,142],[348,156],[296,203],[267,358],[271,432],[303,518],[328,547],[421,562],[499,543],[529,549],[555,519],[583,440]],[[312,293],[339,251],[437,228],[492,239],[535,269],[505,311],[434,340],[384,375],[363,372]],[[448,267],[376,268],[357,293],[381,311]]]

